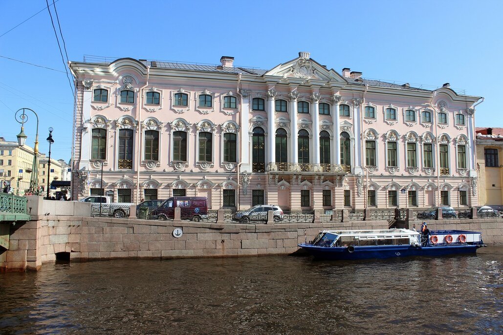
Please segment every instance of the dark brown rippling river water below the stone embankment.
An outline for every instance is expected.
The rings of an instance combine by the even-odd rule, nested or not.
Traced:
[[[503,247],[360,262],[112,260],[0,274],[2,334],[500,334]]]

